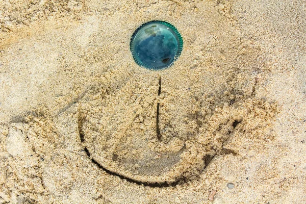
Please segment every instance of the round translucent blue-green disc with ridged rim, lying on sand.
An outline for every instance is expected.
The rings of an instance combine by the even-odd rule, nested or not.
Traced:
[[[170,23],[149,21],[134,32],[130,46],[138,65],[158,70],[171,66],[180,56],[183,39]]]

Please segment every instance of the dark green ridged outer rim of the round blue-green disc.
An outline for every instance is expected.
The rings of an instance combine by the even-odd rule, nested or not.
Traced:
[[[177,41],[177,51],[176,51],[176,54],[174,56],[174,60],[168,64],[168,65],[165,65],[165,66],[162,66],[162,67],[148,67],[146,66],[144,63],[142,63],[137,57],[136,57],[136,54],[135,54],[135,50],[134,50],[134,39],[137,35],[137,33],[139,32],[140,29],[142,29],[143,27],[145,27],[147,24],[150,24],[150,23],[160,23],[160,24],[163,24],[163,25],[166,25],[167,27],[169,27],[177,36],[178,38],[178,41]],[[161,20],[151,20],[151,21],[148,21],[146,23],[143,23],[142,25],[140,25],[140,27],[138,27],[132,37],[131,37],[131,42],[130,42],[130,49],[131,49],[131,52],[132,52],[132,55],[133,55],[133,58],[135,60],[135,62],[139,65],[139,66],[142,66],[142,67],[145,67],[147,69],[152,69],[152,70],[160,70],[160,69],[164,69],[164,68],[167,68],[167,67],[170,67],[173,65],[173,63],[177,60],[177,58],[181,55],[182,53],[182,50],[183,50],[183,38],[181,36],[181,34],[179,33],[179,31],[177,31],[177,29],[174,27],[174,25],[166,22],[166,21],[161,21]]]

